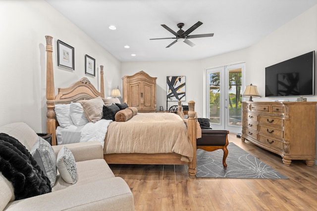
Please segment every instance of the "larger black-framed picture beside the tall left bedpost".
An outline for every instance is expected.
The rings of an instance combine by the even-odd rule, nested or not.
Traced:
[[[57,41],[57,65],[71,70],[74,67],[74,48],[65,42]]]

